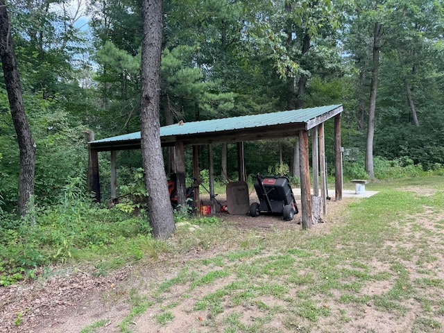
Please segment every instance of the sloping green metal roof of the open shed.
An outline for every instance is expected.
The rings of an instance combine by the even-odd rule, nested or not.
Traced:
[[[299,130],[309,130],[341,112],[342,105],[337,104],[241,117],[181,122],[162,126],[160,139],[163,145],[172,145],[174,142],[209,144],[286,137],[295,135]],[[89,145],[98,150],[138,148],[140,132],[92,141]]]

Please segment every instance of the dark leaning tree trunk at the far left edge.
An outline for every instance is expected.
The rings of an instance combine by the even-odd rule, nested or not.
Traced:
[[[19,144],[19,208],[20,214],[25,215],[28,212],[28,203],[34,194],[35,143],[26,119],[5,0],[0,0],[0,56],[12,121]]]

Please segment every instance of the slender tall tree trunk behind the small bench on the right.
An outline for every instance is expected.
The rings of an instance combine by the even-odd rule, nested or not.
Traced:
[[[375,23],[373,32],[373,69],[372,81],[370,84],[370,109],[368,110],[368,129],[366,144],[366,171],[370,179],[375,178],[373,169],[373,138],[375,136],[375,110],[376,110],[376,93],[377,80],[379,78],[379,52],[381,51],[381,33],[382,24]]]

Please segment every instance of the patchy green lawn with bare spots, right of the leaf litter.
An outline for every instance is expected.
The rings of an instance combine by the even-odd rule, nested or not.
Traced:
[[[444,177],[367,188],[309,231],[181,227],[121,332],[443,332]]]

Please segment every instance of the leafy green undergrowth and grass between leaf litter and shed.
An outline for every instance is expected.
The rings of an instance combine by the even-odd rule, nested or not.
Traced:
[[[188,214],[176,215],[176,221],[189,219]],[[212,217],[193,223],[214,225],[218,221]],[[157,259],[167,248],[167,243],[151,237],[144,209],[93,203],[80,180],[72,178],[54,205],[30,205],[29,214],[21,219],[3,212],[0,286],[34,278],[37,268],[57,263],[96,262],[96,274],[102,275],[146,257]]]

